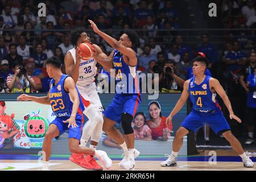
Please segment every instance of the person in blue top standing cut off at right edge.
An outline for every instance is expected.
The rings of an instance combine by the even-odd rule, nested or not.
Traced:
[[[254,53],[255,54],[255,53]],[[255,56],[255,55],[254,55]],[[254,67],[254,72],[247,77],[247,87],[250,92],[247,96],[246,102],[246,125],[248,130],[248,139],[246,144],[254,143],[254,126],[256,121],[256,67]]]

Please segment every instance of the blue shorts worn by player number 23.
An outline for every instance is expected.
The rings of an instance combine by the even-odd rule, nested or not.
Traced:
[[[50,125],[54,124],[59,129],[59,135],[62,135],[66,130],[68,130],[68,138],[76,138],[78,140],[81,139],[82,135],[82,121],[79,119],[76,119],[76,125],[77,127],[68,127],[69,123],[63,123],[63,119],[61,118],[55,118]]]

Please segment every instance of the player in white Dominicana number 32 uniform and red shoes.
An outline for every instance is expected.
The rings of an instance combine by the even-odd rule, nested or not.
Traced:
[[[81,146],[86,146],[86,143],[91,137],[90,148],[95,149],[100,141],[104,121],[102,115],[103,107],[94,82],[94,76],[96,76],[97,73],[96,59],[104,67],[104,60],[106,61],[108,56],[102,52],[100,47],[93,44],[94,58],[89,60],[81,59],[78,48],[79,45],[81,43],[90,42],[89,36],[82,28],[77,28],[72,32],[71,42],[74,48],[70,49],[65,55],[65,70],[67,75],[71,75],[76,82],[76,86],[84,102],[84,114],[89,119],[82,131],[80,144]],[[102,167],[97,164],[93,155],[84,157],[84,155],[72,154],[72,157],[81,159],[80,166],[84,168],[102,170]]]

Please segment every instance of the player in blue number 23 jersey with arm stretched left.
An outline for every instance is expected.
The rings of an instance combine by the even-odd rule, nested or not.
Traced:
[[[34,97],[22,94],[17,98],[18,101],[34,101],[39,104],[51,105],[52,111],[56,115],[56,118],[50,123],[43,141],[43,151],[46,154],[43,158],[43,169],[48,169],[52,139],[63,134],[65,130],[69,130],[68,146],[72,154],[96,155],[103,164],[112,164],[106,152],[79,146],[84,105],[73,78],[61,72],[59,57],[50,57],[46,62],[46,69],[49,77],[52,78],[48,95],[46,97]],[[82,166],[76,159],[69,159]],[[110,167],[111,165],[107,168]]]

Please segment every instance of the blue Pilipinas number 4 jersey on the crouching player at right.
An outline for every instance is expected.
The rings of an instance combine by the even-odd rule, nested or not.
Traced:
[[[189,79],[188,92],[192,101],[192,109],[201,113],[212,113],[220,110],[220,105],[216,100],[216,93],[212,93],[209,86],[210,76],[205,75],[204,81],[197,85],[195,76]]]

